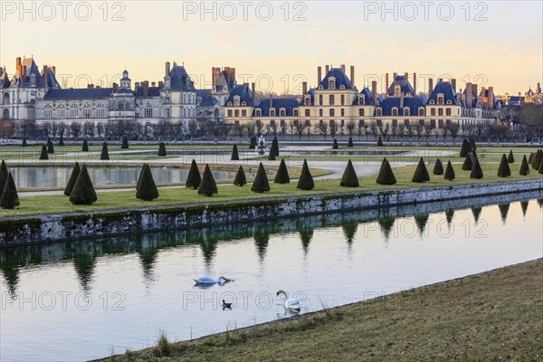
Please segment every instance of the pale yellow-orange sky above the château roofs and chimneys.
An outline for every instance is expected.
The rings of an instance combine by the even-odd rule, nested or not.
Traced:
[[[238,82],[278,93],[299,93],[303,77],[315,86],[327,63],[355,65],[359,90],[394,71],[416,72],[422,91],[430,75],[498,94],[543,79],[541,1],[121,1],[107,13],[102,1],[0,3],[8,74],[33,55],[68,87],[110,86],[125,66],[133,83],[161,81],[167,61],[185,63],[197,88],[210,88],[213,66],[231,66]]]

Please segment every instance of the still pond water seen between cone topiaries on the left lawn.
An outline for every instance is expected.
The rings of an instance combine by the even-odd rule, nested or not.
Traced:
[[[136,185],[141,167],[87,166],[95,186]],[[72,167],[13,167],[10,168],[17,188],[64,187],[71,176]],[[156,183],[185,183],[188,168],[152,167]],[[233,180],[235,172],[214,170],[215,180]]]

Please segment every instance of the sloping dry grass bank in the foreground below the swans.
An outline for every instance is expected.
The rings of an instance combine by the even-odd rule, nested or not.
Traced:
[[[120,361],[538,361],[543,259],[189,342]]]

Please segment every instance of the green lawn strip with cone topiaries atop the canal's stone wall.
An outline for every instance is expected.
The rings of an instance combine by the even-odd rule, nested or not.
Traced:
[[[338,179],[315,180],[315,188],[311,191],[302,191],[296,188],[297,182],[291,182],[288,185],[275,185],[272,183],[273,176],[269,176],[271,181],[271,191],[258,194],[251,191],[250,186],[219,186],[218,195],[205,197],[198,195],[195,190],[178,188],[161,188],[160,196],[153,201],[141,201],[136,198],[134,191],[112,191],[98,192],[98,201],[93,205],[71,205],[68,197],[64,195],[37,195],[21,197],[21,205],[14,210],[0,209],[0,218],[12,215],[32,215],[32,214],[55,214],[69,212],[87,212],[105,209],[119,208],[141,208],[146,206],[161,206],[161,205],[187,205],[206,202],[231,202],[234,200],[243,201],[258,197],[274,197],[288,195],[314,195],[324,193],[338,193],[347,191],[364,191],[364,190],[380,190],[380,189],[397,189],[397,188],[416,188],[429,186],[449,186],[460,184],[477,184],[491,181],[506,181],[520,179],[542,179],[543,175],[531,170],[529,176],[519,176],[520,163],[510,165],[512,176],[501,178],[496,176],[498,172],[498,164],[482,164],[484,177],[481,180],[471,179],[469,171],[462,171],[462,167],[457,165],[454,167],[456,179],[452,182],[443,179],[443,176],[431,175],[430,182],[424,184],[415,184],[411,182],[414,174],[415,166],[395,168],[395,177],[397,184],[394,186],[381,186],[376,184],[376,176],[364,176],[359,178],[360,187],[345,188],[339,186]],[[432,168],[428,167],[428,171],[432,174]],[[251,181],[251,180],[249,180]]]

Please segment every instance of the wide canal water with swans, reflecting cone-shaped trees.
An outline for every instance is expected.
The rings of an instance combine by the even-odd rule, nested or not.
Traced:
[[[541,258],[543,194],[0,250],[3,361],[107,357]],[[208,288],[193,278],[234,281]],[[223,310],[222,300],[233,303]]]

